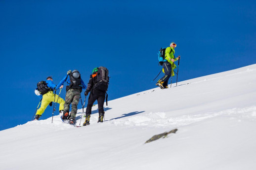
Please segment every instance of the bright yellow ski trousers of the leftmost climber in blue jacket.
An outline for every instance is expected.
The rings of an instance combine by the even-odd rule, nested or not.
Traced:
[[[58,101],[57,101],[57,99],[58,99],[58,95],[55,96],[55,102],[60,104],[59,110],[63,110],[65,101],[60,97],[59,97]],[[54,94],[52,91],[49,91],[43,95],[41,106],[38,109],[36,114],[42,115],[45,108],[49,105],[50,102],[54,102]]]

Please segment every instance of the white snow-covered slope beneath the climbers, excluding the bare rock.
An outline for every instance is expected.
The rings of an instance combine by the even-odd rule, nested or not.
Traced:
[[[0,170],[255,170],[256,65],[175,85],[109,101],[103,123],[96,105],[86,127],[57,115],[0,131]]]

